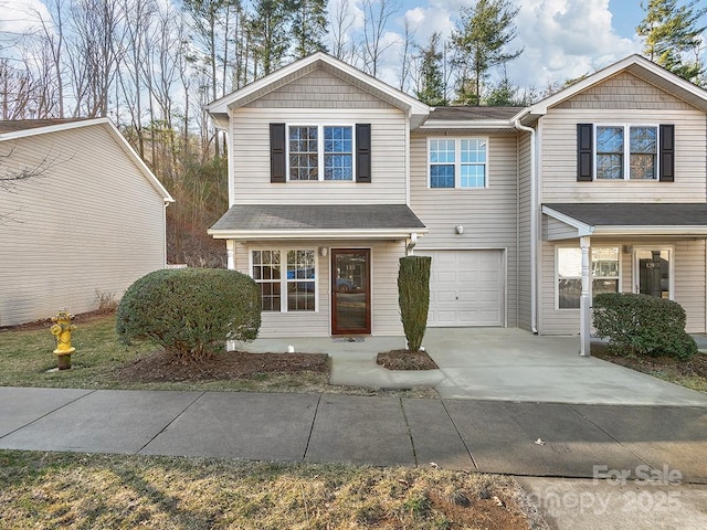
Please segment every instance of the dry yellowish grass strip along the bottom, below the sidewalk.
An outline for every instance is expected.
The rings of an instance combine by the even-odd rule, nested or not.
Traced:
[[[509,477],[0,452],[2,528],[546,528]]]

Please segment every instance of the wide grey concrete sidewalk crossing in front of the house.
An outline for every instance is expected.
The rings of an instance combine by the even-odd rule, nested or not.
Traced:
[[[0,388],[0,448],[428,466],[707,484],[707,409]],[[541,439],[542,443],[536,443]]]

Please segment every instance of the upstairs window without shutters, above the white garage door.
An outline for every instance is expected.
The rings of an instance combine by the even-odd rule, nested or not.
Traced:
[[[430,188],[485,188],[484,138],[430,139]]]

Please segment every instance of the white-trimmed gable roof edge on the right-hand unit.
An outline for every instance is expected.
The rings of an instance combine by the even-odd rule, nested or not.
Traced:
[[[524,123],[534,121],[540,116],[547,114],[549,108],[559,105],[567,99],[572,98],[577,94],[591,88],[592,86],[599,85],[605,80],[622,72],[629,72],[646,83],[683,99],[689,105],[707,112],[707,91],[682,78],[663,66],[658,66],[653,61],[648,61],[639,54],[633,54],[584,77],[557,94],[530,105],[528,108],[520,112],[517,117],[524,118]]]

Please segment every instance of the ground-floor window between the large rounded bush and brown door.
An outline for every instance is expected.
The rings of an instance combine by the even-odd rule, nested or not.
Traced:
[[[316,310],[315,256],[316,252],[312,248],[263,250],[251,253],[251,269],[253,279],[261,287],[263,311]],[[283,269],[285,274],[282,274]]]

